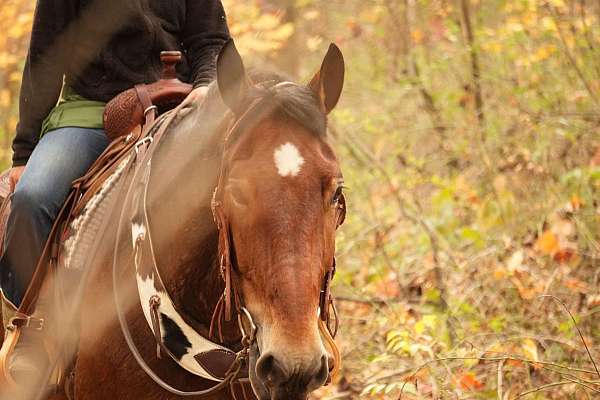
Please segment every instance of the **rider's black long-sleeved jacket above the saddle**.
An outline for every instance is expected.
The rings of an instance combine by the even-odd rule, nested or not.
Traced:
[[[24,165],[66,83],[108,101],[160,75],[160,52],[181,50],[181,80],[208,84],[229,39],[220,0],[38,0],[23,72],[13,165]]]

